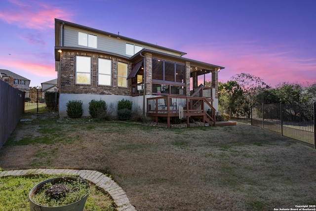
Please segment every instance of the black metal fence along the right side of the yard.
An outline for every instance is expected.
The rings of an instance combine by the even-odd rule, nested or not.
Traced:
[[[252,107],[251,125],[280,133],[316,148],[316,103],[262,104]]]

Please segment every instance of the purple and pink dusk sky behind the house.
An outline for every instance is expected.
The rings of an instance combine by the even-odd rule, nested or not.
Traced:
[[[316,83],[316,0],[0,0],[0,69],[55,79],[54,18],[186,52],[224,83]]]

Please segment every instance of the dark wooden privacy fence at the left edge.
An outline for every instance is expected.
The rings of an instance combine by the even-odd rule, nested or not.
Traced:
[[[24,92],[0,80],[0,148],[24,111]]]

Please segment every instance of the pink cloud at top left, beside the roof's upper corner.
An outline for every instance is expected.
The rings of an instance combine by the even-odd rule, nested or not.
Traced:
[[[61,8],[29,1],[29,4],[10,0],[14,9],[2,8],[0,19],[20,28],[43,30],[54,28],[54,18],[68,19],[72,14]]]

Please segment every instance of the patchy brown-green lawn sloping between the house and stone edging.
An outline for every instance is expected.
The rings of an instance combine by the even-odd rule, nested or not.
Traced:
[[[1,169],[106,171],[138,211],[270,211],[316,205],[316,150],[268,130],[167,129],[26,115]]]

